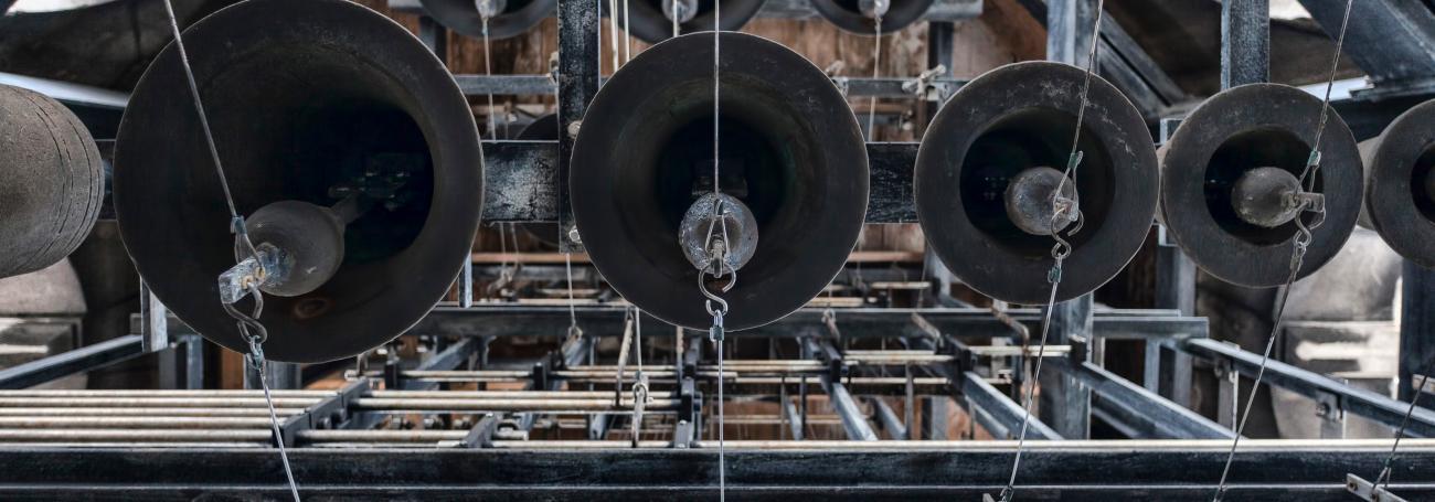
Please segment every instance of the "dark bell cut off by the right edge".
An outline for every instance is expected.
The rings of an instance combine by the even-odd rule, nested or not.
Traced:
[[[1435,268],[1435,100],[1401,113],[1360,153],[1368,227],[1406,260]]]

